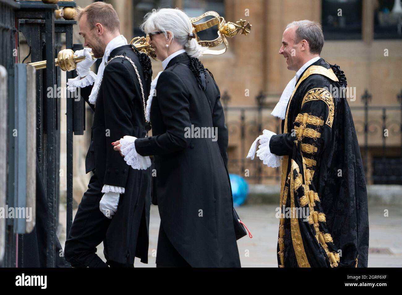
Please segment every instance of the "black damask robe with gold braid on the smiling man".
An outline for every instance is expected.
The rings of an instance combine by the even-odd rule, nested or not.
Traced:
[[[331,68],[323,59],[313,65]],[[340,81],[312,74],[300,83],[287,110],[288,132],[272,136],[270,150],[289,157],[286,175],[293,181],[285,187],[286,207],[291,207],[292,189],[295,208],[311,209],[309,218],[298,218],[310,267],[367,267],[369,222],[365,175],[347,100],[339,92],[328,92],[339,89],[341,83],[346,85],[346,77],[343,78],[338,66],[332,66],[332,70]],[[282,132],[283,129],[284,121]],[[312,203],[309,193],[314,196]],[[319,220],[313,220],[314,214]],[[278,264],[306,266],[297,262],[295,252],[301,249],[294,248],[297,243],[290,228],[290,218],[285,218],[284,263],[278,255]]]

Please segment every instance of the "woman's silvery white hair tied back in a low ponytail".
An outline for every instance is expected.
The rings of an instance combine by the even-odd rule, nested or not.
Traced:
[[[193,32],[193,25],[187,14],[178,8],[160,8],[148,12],[140,28],[146,34],[162,32],[165,37],[166,32],[170,31],[172,41],[175,40],[179,45],[183,45],[191,57],[200,57],[204,50],[208,49],[199,45],[197,38],[189,38],[189,34]]]

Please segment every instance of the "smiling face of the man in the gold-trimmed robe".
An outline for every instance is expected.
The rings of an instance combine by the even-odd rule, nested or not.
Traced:
[[[297,26],[287,28],[282,35],[282,47],[279,54],[286,59],[287,69],[297,71],[300,69],[300,42],[295,43]]]

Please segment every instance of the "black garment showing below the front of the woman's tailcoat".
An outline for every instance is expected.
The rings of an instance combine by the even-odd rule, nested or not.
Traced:
[[[162,222],[159,226],[156,267],[191,267],[170,242],[163,229]]]

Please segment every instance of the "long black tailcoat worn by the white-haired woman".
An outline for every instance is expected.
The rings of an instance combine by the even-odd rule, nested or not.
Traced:
[[[160,74],[150,113],[153,136],[136,140],[135,149],[155,156],[161,226],[180,255],[192,267],[240,267],[220,93],[207,72],[205,97],[189,61],[179,54]],[[217,141],[186,138],[191,125],[217,127]]]

